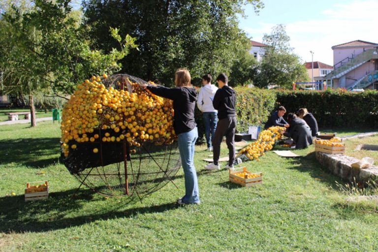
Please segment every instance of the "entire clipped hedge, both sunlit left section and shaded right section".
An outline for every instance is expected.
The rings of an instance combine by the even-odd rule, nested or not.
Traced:
[[[280,105],[289,112],[305,107],[313,113],[320,128],[377,128],[378,92],[345,91],[284,91],[237,87],[237,131],[247,132],[248,126],[263,126],[268,116]],[[196,109],[198,143],[204,143],[202,113]]]

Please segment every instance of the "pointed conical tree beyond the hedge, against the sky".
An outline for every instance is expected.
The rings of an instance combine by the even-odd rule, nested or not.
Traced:
[[[293,53],[289,44],[290,37],[284,25],[277,25],[271,34],[264,34],[263,43],[268,44],[265,55],[258,67],[254,84],[258,87],[278,85],[290,87],[294,81],[307,81],[307,70],[300,58]]]

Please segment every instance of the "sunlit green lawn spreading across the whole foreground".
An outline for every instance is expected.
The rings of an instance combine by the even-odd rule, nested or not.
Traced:
[[[322,170],[314,147],[273,152],[248,170],[264,184],[242,188],[228,172],[208,172],[197,146],[201,205],[178,207],[184,193],[180,169],[174,183],[145,197],[105,198],[80,189],[58,163],[60,130],[43,122],[0,126],[0,251],[376,251],[377,208],[350,205],[337,177]],[[222,156],[226,154],[222,146]],[[27,182],[48,180],[48,200],[25,203]],[[11,196],[11,192],[16,196]]]

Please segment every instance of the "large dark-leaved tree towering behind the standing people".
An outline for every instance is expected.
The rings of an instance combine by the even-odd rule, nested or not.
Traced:
[[[248,43],[237,21],[246,2],[256,12],[263,6],[260,0],[85,0],[84,14],[97,48],[106,52],[114,43],[104,29],[119,27],[136,37],[140,51],[125,57],[124,72],[172,85],[179,67],[187,67],[194,80],[229,73]]]

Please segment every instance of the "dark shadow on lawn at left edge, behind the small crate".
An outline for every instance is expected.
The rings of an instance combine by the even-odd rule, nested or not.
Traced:
[[[33,168],[58,162],[59,138],[23,138],[0,140],[0,164],[21,163]],[[39,159],[40,157],[51,157]]]

